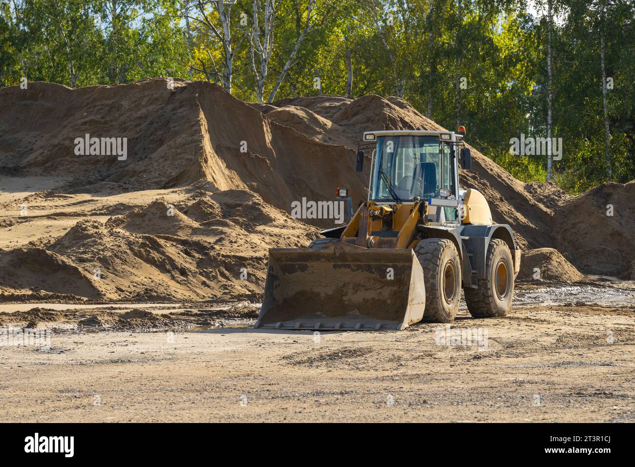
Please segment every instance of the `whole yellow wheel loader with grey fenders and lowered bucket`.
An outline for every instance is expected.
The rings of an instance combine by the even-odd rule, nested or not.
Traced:
[[[450,323],[461,288],[476,318],[511,307],[520,250],[481,193],[458,186],[471,152],[458,132],[366,132],[368,200],[308,248],[269,250],[257,328],[401,330]],[[347,189],[337,202],[349,206]],[[349,216],[350,217],[350,216]]]

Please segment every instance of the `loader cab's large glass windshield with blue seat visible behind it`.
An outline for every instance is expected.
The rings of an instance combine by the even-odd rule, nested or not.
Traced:
[[[437,136],[380,136],[373,173],[373,200],[438,198],[439,188],[455,194],[450,147]],[[392,192],[392,193],[391,193]]]

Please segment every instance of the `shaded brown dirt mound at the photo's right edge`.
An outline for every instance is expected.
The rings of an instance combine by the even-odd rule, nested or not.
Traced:
[[[580,271],[626,278],[635,261],[635,180],[603,184],[573,198],[555,217],[558,248]]]

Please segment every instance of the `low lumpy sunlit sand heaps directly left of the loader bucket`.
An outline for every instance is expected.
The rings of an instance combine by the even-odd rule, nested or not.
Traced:
[[[249,191],[195,192],[179,206],[160,198],[105,222],[81,220],[42,247],[0,252],[0,292],[11,300],[258,301],[268,248],[304,247],[315,235]]]

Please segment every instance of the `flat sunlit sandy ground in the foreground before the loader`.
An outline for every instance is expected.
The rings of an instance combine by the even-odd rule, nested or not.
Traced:
[[[0,348],[0,421],[635,421],[632,302],[442,329],[54,332]]]

